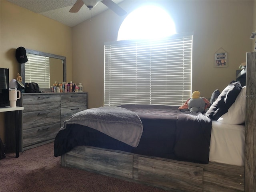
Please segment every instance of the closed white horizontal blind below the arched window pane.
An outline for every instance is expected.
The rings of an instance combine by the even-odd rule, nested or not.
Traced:
[[[104,105],[182,106],[191,97],[192,35],[105,43]]]

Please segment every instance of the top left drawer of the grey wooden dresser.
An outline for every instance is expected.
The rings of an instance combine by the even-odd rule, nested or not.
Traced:
[[[60,108],[60,94],[23,95],[23,112]]]

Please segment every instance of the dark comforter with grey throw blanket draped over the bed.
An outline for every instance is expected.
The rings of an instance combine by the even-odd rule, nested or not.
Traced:
[[[208,163],[210,134],[208,117],[180,112],[178,106],[106,106],[78,112],[64,122],[54,155],[84,145]]]

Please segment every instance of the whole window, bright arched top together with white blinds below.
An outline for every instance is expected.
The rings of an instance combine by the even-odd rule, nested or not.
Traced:
[[[158,7],[130,13],[104,44],[104,105],[182,106],[191,97],[192,34],[175,34]]]

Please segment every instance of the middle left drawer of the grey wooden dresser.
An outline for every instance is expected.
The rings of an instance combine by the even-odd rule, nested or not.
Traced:
[[[23,113],[23,130],[60,122],[60,108]]]

